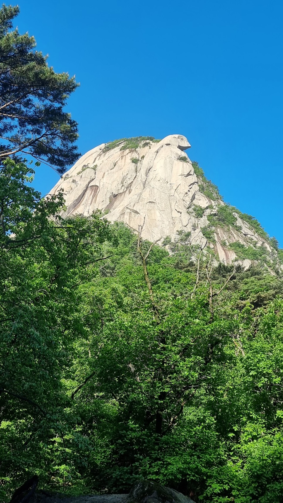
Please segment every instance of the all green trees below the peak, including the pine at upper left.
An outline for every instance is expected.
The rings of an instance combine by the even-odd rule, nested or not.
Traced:
[[[203,503],[279,503],[282,278],[212,267],[183,232],[154,244],[99,211],[62,218],[24,158],[59,172],[76,158],[76,85],[11,32],[17,13],[0,11],[1,500],[36,474],[64,494],[146,478]]]

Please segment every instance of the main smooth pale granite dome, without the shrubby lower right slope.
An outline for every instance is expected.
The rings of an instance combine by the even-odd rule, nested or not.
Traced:
[[[82,156],[54,187],[65,193],[67,215],[90,215],[96,208],[110,221],[122,220],[154,241],[192,230],[195,219],[186,211],[198,192],[184,136],[170,135],[135,150],[121,146],[104,151],[99,145]],[[203,204],[206,204],[204,201]]]

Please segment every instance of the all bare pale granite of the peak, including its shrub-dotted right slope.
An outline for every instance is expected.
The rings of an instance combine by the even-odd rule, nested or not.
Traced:
[[[144,224],[142,236],[150,241],[166,236],[174,241],[180,231],[190,232],[191,244],[214,249],[224,264],[238,258],[229,247],[233,242],[263,246],[268,256],[272,254],[268,240],[237,214],[237,225],[215,226],[213,238],[206,237],[209,215],[224,203],[217,194],[212,199],[202,190],[202,180],[185,152],[190,146],[177,134],[158,142],[141,140],[135,148],[127,148],[125,140],[103,143],[84,154],[51,194],[64,192],[67,216],[87,216],[98,208],[110,221],[123,221],[133,230]],[[202,214],[196,214],[196,207]],[[251,264],[245,257],[238,262]]]

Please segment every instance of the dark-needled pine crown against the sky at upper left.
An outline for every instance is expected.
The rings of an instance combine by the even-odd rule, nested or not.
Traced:
[[[77,123],[64,111],[78,84],[48,66],[34,37],[13,30],[19,12],[18,6],[0,9],[0,163],[30,154],[62,174],[80,155]]]

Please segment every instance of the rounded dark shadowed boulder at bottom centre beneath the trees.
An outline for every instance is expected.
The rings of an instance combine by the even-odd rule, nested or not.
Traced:
[[[195,501],[151,480],[139,480],[129,492],[126,503],[195,503]]]

